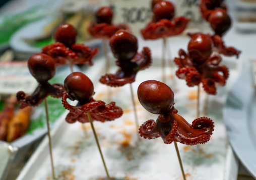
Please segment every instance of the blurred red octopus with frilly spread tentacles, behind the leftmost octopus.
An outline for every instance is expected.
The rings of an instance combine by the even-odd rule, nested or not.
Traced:
[[[91,66],[98,49],[76,44],[77,35],[77,30],[72,25],[60,25],[54,35],[56,43],[45,46],[42,53],[51,56],[57,66],[86,63]]]

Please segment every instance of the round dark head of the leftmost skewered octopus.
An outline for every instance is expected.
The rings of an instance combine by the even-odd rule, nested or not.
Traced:
[[[56,73],[55,61],[48,55],[38,53],[32,55],[28,60],[28,68],[37,82],[47,82]]]

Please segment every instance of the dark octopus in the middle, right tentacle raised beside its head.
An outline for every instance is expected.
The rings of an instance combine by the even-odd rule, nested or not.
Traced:
[[[148,68],[151,64],[149,48],[143,48],[137,53],[138,40],[125,30],[117,31],[109,41],[111,50],[117,58],[116,65],[119,67],[115,74],[106,74],[100,82],[108,86],[123,86],[135,81],[136,74],[140,70]]]

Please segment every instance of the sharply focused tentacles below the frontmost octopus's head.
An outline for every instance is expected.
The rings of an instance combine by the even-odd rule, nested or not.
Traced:
[[[201,117],[189,124],[177,112],[174,109],[167,114],[161,114],[156,122],[153,119],[146,121],[139,129],[140,135],[145,139],[154,139],[161,136],[166,144],[175,141],[186,145],[196,145],[204,144],[210,140],[214,131],[211,119]],[[162,118],[170,120],[161,122]]]

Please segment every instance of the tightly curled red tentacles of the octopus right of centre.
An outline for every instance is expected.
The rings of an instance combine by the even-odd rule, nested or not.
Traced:
[[[204,61],[193,61],[184,50],[179,50],[179,58],[174,62],[178,65],[176,75],[185,79],[187,86],[199,85],[201,82],[208,94],[216,94],[216,85],[224,86],[228,78],[228,69],[221,65],[221,57],[212,55]]]

